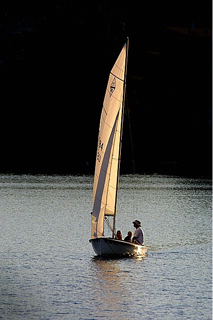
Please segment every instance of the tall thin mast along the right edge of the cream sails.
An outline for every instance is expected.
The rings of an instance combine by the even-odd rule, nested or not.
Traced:
[[[112,227],[112,237],[115,234],[115,222],[116,222],[116,211],[117,211],[117,199],[118,199],[118,183],[119,183],[119,172],[120,172],[120,162],[121,162],[121,141],[122,141],[122,131],[123,131],[123,120],[124,120],[124,100],[126,91],[126,76],[127,76],[127,57],[128,57],[128,47],[129,47],[129,37],[126,40],[126,58],[125,58],[125,70],[124,70],[124,84],[123,84],[123,100],[122,100],[122,115],[121,115],[121,128],[120,128],[120,143],[119,143],[119,159],[118,159],[118,171],[117,171],[117,183],[116,183],[116,197],[115,197],[115,212]]]

